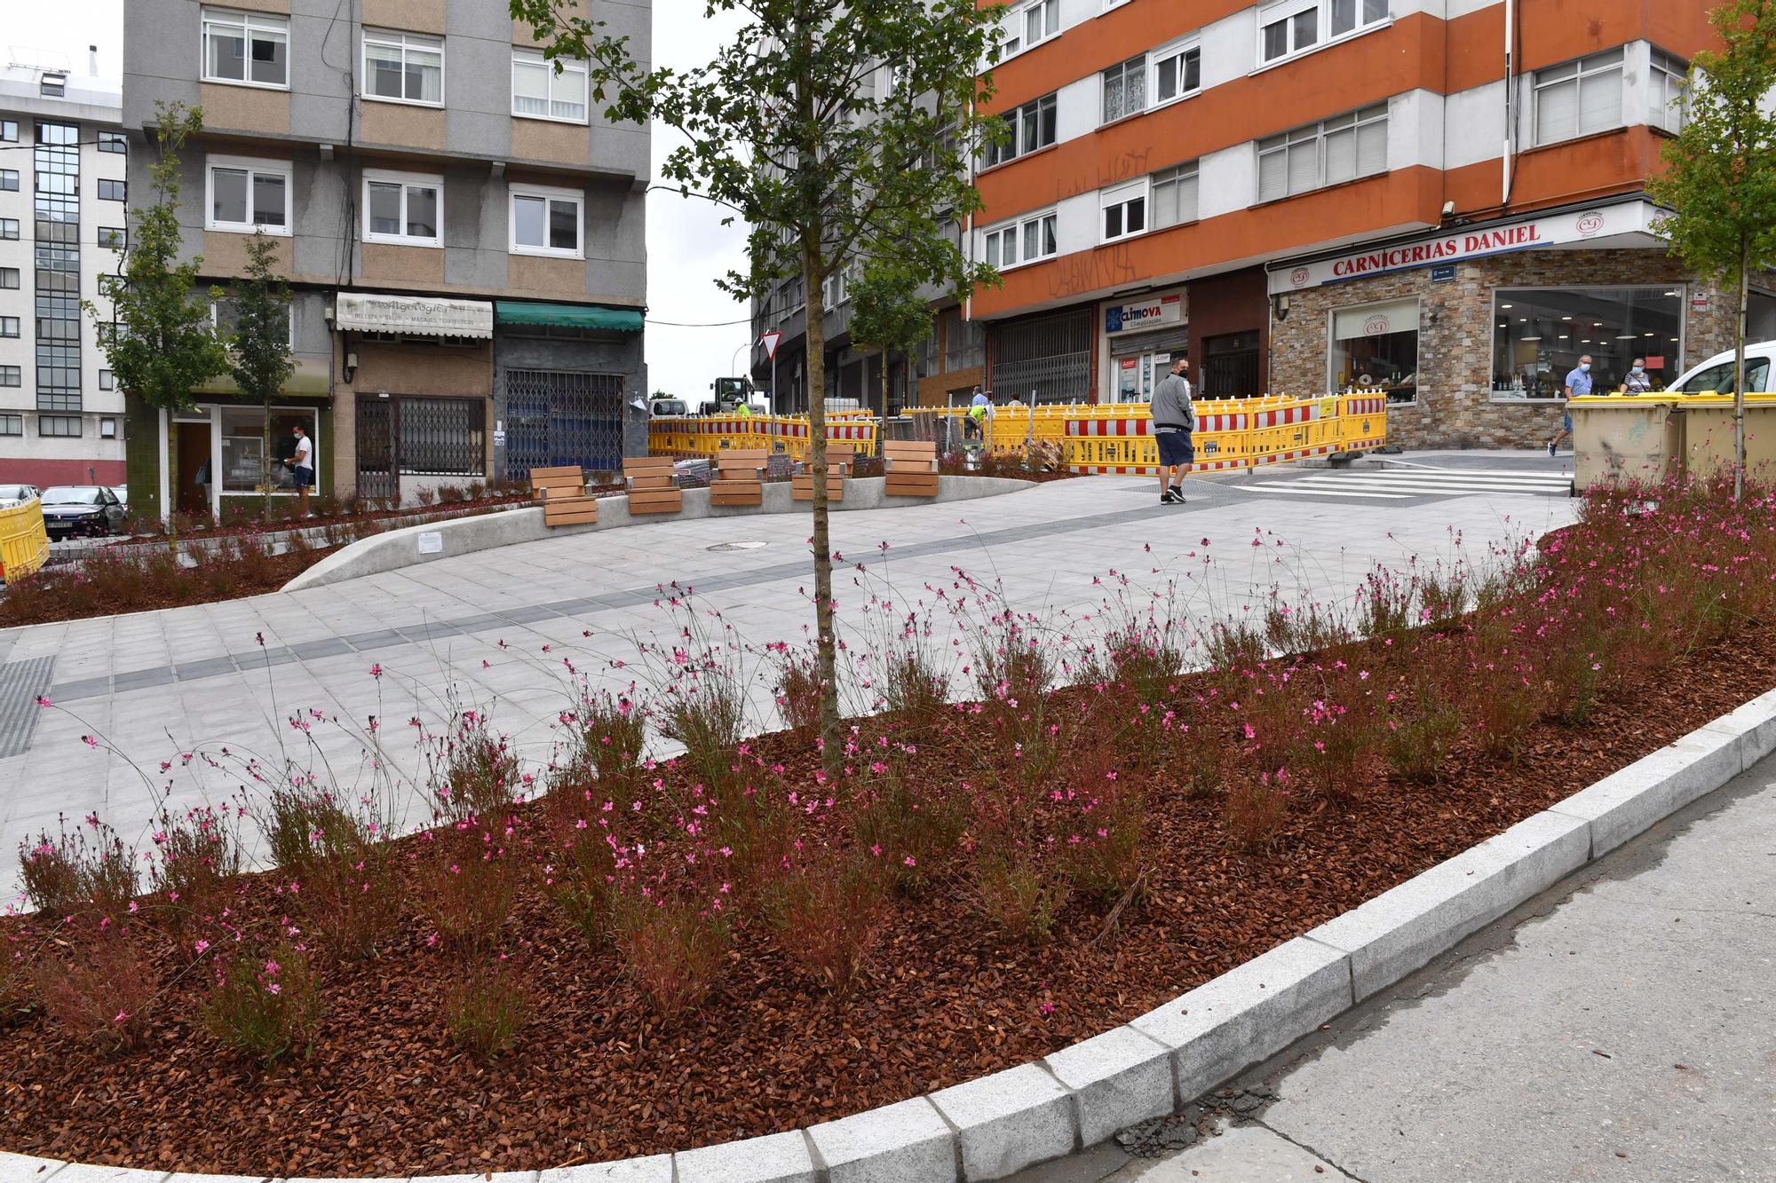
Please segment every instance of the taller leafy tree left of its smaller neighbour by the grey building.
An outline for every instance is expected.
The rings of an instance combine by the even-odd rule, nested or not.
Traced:
[[[99,327],[112,377],[124,398],[140,398],[156,410],[185,410],[192,391],[210,378],[227,373],[227,350],[210,327],[210,307],[197,288],[202,256],[176,263],[183,247],[179,234],[179,149],[204,126],[202,108],[183,103],[158,107],[153,133],[160,158],[151,172],[153,204],[130,211],[130,245],[124,250],[121,282],[112,293],[112,318],[91,302],[87,316]],[[115,330],[112,330],[115,322]],[[179,488],[179,419],[167,419],[167,488],[174,503]],[[169,535],[172,508],[167,515]]]

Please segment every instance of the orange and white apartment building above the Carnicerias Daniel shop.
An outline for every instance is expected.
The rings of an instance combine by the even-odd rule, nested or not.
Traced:
[[[1709,7],[1014,2],[966,227],[1003,284],[952,320],[1000,401],[1144,400],[1185,352],[1211,396],[1385,391],[1408,446],[1545,442],[1581,353],[1614,389],[1732,341],[1645,195]]]

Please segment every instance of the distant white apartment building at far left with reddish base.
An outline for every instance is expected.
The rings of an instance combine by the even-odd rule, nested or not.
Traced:
[[[0,69],[0,483],[121,485],[123,396],[80,302],[108,306],[124,238],[123,105],[96,60],[39,57]]]

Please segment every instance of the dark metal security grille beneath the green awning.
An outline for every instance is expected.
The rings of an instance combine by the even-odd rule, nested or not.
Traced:
[[[506,371],[506,480],[561,464],[623,467],[623,375]]]

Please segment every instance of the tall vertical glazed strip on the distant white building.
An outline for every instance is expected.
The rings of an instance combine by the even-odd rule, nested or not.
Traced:
[[[37,410],[80,410],[80,126],[39,123],[32,167]]]

